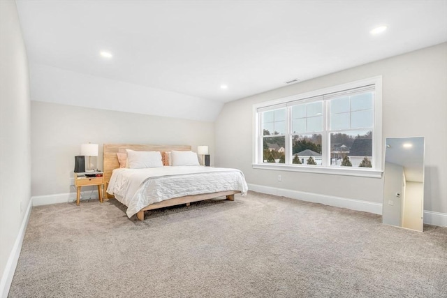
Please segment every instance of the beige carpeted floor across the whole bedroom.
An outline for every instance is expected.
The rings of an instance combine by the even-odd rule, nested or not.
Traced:
[[[447,228],[249,192],[34,207],[8,297],[447,297]]]

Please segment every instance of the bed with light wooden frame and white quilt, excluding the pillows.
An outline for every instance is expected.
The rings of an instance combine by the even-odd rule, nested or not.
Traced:
[[[240,170],[203,166],[163,166],[153,168],[119,168],[117,154],[133,151],[191,151],[184,145],[104,144],[103,167],[107,198],[126,205],[130,218],[152,209],[197,202],[225,196],[233,201],[236,193],[247,193],[247,183]],[[186,152],[185,152],[186,154]],[[163,156],[164,158],[164,156]]]

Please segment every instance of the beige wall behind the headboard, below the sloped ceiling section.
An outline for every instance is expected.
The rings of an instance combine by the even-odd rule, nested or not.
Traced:
[[[168,108],[168,107],[166,107]],[[102,145],[208,145],[214,157],[214,123],[115,112],[31,101],[32,195],[73,193],[75,165],[84,143],[99,144],[96,164],[102,169]],[[213,164],[213,159],[211,160]]]

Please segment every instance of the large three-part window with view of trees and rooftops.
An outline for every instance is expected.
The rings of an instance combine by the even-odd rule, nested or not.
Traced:
[[[254,106],[254,167],[381,175],[381,77]]]

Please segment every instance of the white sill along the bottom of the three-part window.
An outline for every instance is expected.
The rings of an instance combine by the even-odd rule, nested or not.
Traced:
[[[277,171],[289,171],[289,172],[308,172],[314,174],[335,174],[343,176],[356,176],[356,177],[369,177],[369,178],[381,178],[381,170],[361,170],[339,167],[321,167],[321,166],[306,166],[306,165],[284,165],[279,163],[265,164],[254,163],[252,164],[254,169],[261,170],[277,170]]]

